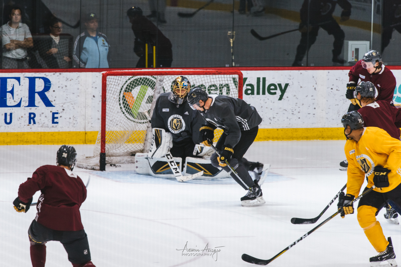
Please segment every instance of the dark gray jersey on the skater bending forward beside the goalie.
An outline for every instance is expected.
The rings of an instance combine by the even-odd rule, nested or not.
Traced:
[[[235,147],[241,138],[241,131],[250,130],[262,122],[256,108],[240,98],[210,94],[212,104],[203,116],[207,125],[222,128],[227,135],[225,145]]]

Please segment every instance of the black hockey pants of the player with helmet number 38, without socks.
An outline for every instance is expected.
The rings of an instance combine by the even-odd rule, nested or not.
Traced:
[[[48,241],[60,241],[71,263],[81,264],[91,260],[88,238],[85,230],[57,231],[47,228],[33,220],[28,229],[29,240],[41,244]]]

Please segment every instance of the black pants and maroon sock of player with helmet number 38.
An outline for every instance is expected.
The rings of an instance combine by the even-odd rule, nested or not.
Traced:
[[[88,238],[85,230],[56,231],[33,220],[28,229],[30,255],[33,267],[44,267],[46,261],[46,243],[60,241],[68,254],[68,260],[79,266],[91,260]]]

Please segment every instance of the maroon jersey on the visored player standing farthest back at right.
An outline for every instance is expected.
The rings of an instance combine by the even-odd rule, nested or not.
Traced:
[[[368,70],[362,67],[361,61],[356,62],[348,72],[349,81],[358,83],[360,79],[361,82],[372,82],[379,92],[376,100],[393,103],[394,89],[397,85],[393,72],[387,66],[381,65],[381,71],[378,74],[369,74]]]

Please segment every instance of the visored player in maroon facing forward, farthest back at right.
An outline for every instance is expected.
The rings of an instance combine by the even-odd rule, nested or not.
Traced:
[[[393,72],[381,61],[379,51],[369,50],[362,60],[356,62],[348,72],[349,82],[347,84],[346,98],[351,100],[348,112],[358,110],[361,105],[354,96],[355,86],[360,79],[361,82],[372,82],[378,90],[376,100],[384,100],[394,106],[393,95],[396,86]]]

